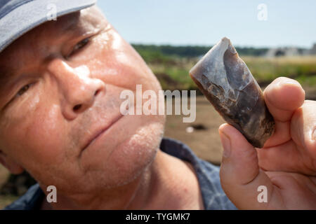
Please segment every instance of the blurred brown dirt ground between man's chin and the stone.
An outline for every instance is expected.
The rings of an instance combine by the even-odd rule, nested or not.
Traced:
[[[225,121],[206,98],[197,96],[195,122],[183,123],[183,115],[166,116],[165,136],[182,141],[190,146],[199,158],[219,165],[223,149],[218,127],[222,123]]]

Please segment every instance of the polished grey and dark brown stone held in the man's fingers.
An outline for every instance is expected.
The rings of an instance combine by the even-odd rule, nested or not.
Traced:
[[[262,148],[275,123],[263,92],[228,38],[209,50],[190,70],[190,76],[227,123]]]

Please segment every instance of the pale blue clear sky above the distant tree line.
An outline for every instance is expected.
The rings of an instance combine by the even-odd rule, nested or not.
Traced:
[[[98,0],[97,5],[129,43],[213,45],[223,36],[242,47],[316,43],[315,0]]]

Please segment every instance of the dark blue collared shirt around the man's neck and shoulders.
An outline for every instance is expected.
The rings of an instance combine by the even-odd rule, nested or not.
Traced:
[[[190,162],[195,168],[197,179],[201,188],[204,209],[236,209],[230,202],[220,186],[219,167],[197,158],[197,155],[185,144],[175,139],[164,138],[160,149],[180,160]],[[8,205],[8,210],[34,210],[39,209],[45,195],[39,184],[35,184],[25,195]]]

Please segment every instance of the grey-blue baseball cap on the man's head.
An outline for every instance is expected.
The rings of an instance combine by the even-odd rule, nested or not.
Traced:
[[[1,0],[0,52],[27,31],[83,8],[97,0]]]

